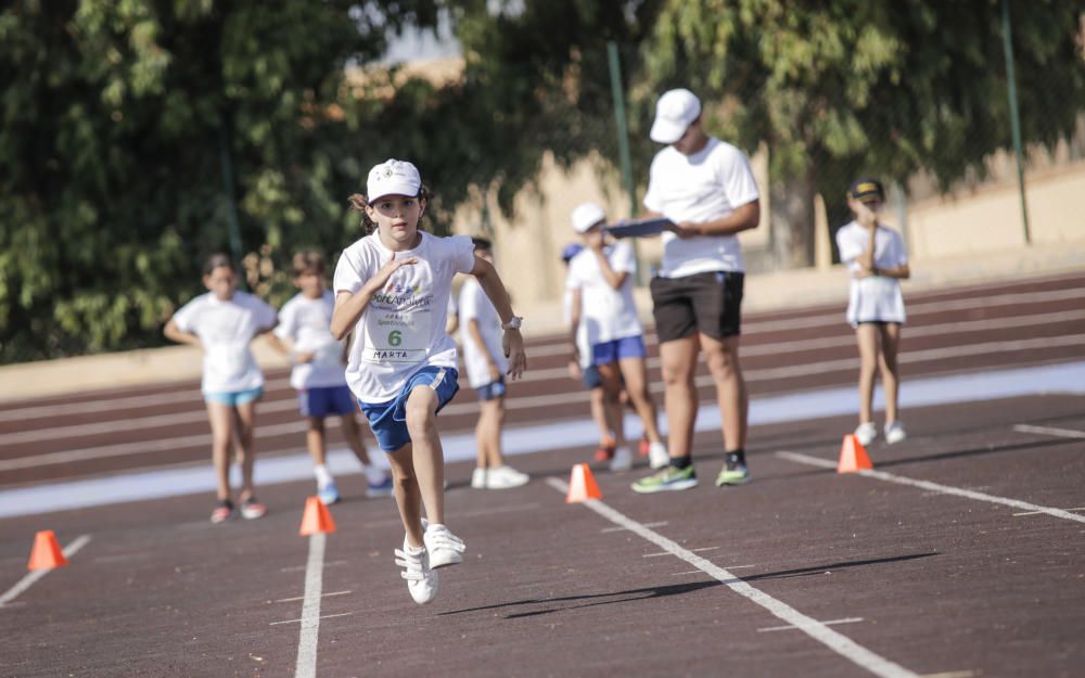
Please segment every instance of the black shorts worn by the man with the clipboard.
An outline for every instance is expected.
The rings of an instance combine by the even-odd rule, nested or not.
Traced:
[[[684,338],[694,332],[713,338],[739,334],[744,278],[731,271],[653,278],[652,314],[660,342]]]

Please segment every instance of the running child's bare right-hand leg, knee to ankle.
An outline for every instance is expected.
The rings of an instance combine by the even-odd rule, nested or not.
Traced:
[[[431,523],[445,522],[445,456],[437,435],[437,392],[416,386],[407,397],[407,432],[410,434],[419,491]]]

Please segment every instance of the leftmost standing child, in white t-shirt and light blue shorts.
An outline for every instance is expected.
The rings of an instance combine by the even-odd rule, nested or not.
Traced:
[[[276,325],[271,306],[238,291],[238,269],[225,254],[213,254],[204,264],[208,292],[182,306],[166,323],[165,335],[180,344],[203,349],[201,391],[210,421],[212,461],[218,482],[218,502],[212,523],[233,517],[230,498],[230,445],[237,440],[241,465],[241,515],[261,517],[267,507],[256,500],[253,470],[256,463],[256,404],[264,395],[264,373],[248,349],[259,334]]]

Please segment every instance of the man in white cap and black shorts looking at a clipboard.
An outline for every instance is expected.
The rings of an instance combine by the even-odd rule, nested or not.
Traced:
[[[674,222],[663,233],[663,261],[651,281],[671,463],[633,489],[697,485],[693,373],[701,350],[723,421],[726,459],[716,485],[739,485],[750,474],[744,451],[749,398],[739,367],[744,266],[736,235],[761,220],[757,183],[740,150],[705,133],[701,102],[689,90],[673,89],[660,98],[649,137],[666,148],[652,161],[644,207]]]

